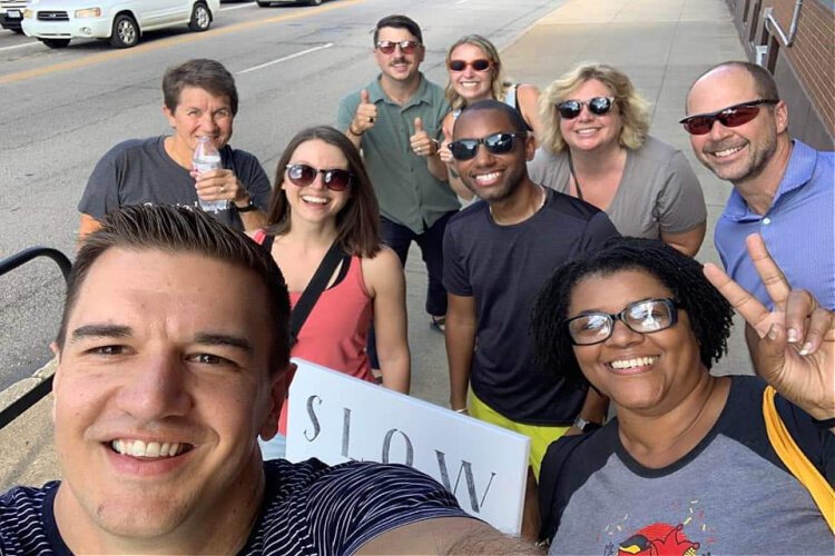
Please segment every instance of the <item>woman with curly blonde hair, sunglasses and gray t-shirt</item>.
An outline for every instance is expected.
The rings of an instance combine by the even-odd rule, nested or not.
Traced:
[[[695,256],[707,209],[680,150],[651,136],[648,103],[629,77],[584,63],[540,99],[542,146],[531,179],[605,210],[623,236],[662,239]]]

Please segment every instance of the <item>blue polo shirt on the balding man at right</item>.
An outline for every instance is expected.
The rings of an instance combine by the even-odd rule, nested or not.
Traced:
[[[714,241],[728,275],[767,307],[773,307],[772,299],[745,247],[745,238],[757,231],[788,284],[835,309],[835,152],[793,142],[768,211],[754,212],[734,189]]]

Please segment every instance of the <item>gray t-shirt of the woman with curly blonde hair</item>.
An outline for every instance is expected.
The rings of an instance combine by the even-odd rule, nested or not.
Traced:
[[[568,150],[554,155],[539,148],[528,173],[537,183],[568,193]],[[707,220],[705,196],[690,163],[680,150],[654,137],[636,150],[627,149],[623,176],[606,214],[621,235],[650,239],[660,239],[661,231],[689,231]]]

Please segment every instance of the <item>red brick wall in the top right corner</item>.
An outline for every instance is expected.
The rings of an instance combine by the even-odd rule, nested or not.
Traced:
[[[789,130],[818,149],[832,150],[835,138],[835,10],[829,0],[804,0],[790,47],[765,30],[763,13],[788,34],[796,0],[726,0],[749,58],[766,46],[766,66],[789,109]]]

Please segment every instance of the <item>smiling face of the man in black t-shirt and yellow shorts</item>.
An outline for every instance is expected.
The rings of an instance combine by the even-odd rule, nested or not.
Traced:
[[[515,133],[507,115],[499,110],[464,111],[455,122],[453,141],[484,139],[495,133]],[[513,139],[513,148],[505,153],[494,153],[479,145],[469,160],[455,160],[455,170],[464,186],[488,202],[510,197],[528,176],[525,162],[533,158],[533,137]]]

